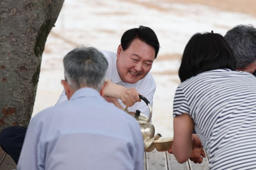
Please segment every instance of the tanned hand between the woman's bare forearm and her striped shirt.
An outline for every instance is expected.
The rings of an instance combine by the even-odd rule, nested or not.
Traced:
[[[202,157],[206,157],[206,154],[204,153],[204,148],[202,146],[202,142],[197,134],[192,134],[192,153],[189,159],[193,161],[195,164],[200,164],[203,162]]]

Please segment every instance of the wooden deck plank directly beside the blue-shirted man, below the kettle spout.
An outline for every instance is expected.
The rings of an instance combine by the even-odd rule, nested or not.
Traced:
[[[168,170],[165,152],[146,152],[146,170]]]

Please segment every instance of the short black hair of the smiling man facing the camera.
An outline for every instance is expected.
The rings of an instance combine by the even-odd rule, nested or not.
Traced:
[[[149,27],[139,26],[139,28],[132,28],[124,32],[121,38],[122,49],[126,50],[127,48],[129,48],[132,41],[136,38],[154,47],[156,58],[160,45],[155,32]]]

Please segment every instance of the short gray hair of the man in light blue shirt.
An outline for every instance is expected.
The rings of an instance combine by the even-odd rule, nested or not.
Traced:
[[[70,87],[74,90],[91,87],[100,90],[104,81],[108,61],[94,47],[73,49],[63,59],[64,74]]]

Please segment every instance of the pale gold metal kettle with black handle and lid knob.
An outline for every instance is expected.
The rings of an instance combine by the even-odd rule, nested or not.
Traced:
[[[144,140],[144,150],[146,152],[151,152],[152,150],[154,150],[155,146],[153,141],[157,140],[158,138],[162,137],[161,134],[155,134],[155,127],[154,125],[150,122],[151,118],[152,118],[152,107],[150,105],[150,102],[148,101],[148,99],[146,99],[146,97],[139,95],[140,99],[142,99],[146,105],[148,105],[149,108],[149,117],[146,117],[143,114],[140,114],[139,110],[136,110],[135,114],[132,114],[134,116],[134,118],[136,119],[136,121],[139,123],[140,125],[140,131],[142,133],[143,136],[143,140]],[[127,110],[128,107],[126,107],[124,109],[124,111],[128,111]]]

